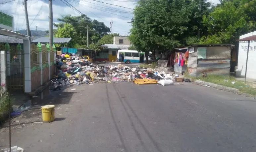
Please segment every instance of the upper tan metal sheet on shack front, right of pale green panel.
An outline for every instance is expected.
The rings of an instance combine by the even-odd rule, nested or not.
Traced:
[[[206,51],[207,59],[230,59],[230,46],[209,46]]]

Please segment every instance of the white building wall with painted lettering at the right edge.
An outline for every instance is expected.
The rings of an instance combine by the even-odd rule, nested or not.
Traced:
[[[239,39],[246,38],[249,36],[256,35],[256,31],[247,33],[239,37]],[[245,76],[246,67],[246,57],[247,57],[247,41],[239,42],[238,49],[238,62],[236,76]],[[249,54],[248,54],[248,64],[247,64],[247,78],[256,78],[256,41],[250,42]]]

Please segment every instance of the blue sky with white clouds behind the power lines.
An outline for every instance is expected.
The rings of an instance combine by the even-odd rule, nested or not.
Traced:
[[[5,2],[9,0],[2,1]],[[55,23],[58,22],[57,18],[61,17],[61,15],[80,15],[62,1],[64,0],[53,0],[53,21]],[[113,5],[134,8],[136,0],[97,0],[113,5],[100,3],[94,0],[66,1],[81,13],[87,15],[91,19],[97,19],[100,22],[104,22],[108,27],[110,27],[110,21],[112,20],[112,32],[127,35],[131,28],[131,24],[127,22],[132,18],[132,10]],[[13,2],[0,5],[0,10],[2,12],[14,16],[15,30],[26,29],[24,6],[22,2],[23,0],[15,0]],[[219,0],[209,0],[209,2],[215,5],[219,3]],[[49,29],[48,0],[27,0],[27,8],[31,30],[35,30],[36,26],[37,30]]]

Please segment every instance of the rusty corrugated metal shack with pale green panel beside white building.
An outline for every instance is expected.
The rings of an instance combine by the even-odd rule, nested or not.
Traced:
[[[230,58],[232,44],[212,44],[189,46],[187,73],[190,76],[230,75]]]

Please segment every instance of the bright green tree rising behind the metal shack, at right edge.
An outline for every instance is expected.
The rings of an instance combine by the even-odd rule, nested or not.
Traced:
[[[209,15],[203,17],[208,36],[201,44],[231,43],[256,28],[256,0],[223,0]]]

